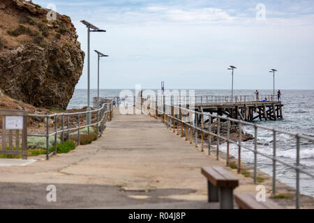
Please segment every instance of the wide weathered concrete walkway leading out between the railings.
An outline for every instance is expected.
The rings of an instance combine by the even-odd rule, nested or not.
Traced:
[[[116,111],[92,144],[27,167],[0,167],[0,208],[218,208],[207,203],[204,166],[225,163],[154,118]],[[255,192],[251,178],[235,175],[236,192]],[[57,187],[57,202],[46,201],[47,185]]]

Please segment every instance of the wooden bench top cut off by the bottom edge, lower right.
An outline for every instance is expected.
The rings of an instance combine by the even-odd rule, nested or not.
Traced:
[[[274,201],[257,201],[255,194],[235,194],[234,199],[240,209],[283,209]]]

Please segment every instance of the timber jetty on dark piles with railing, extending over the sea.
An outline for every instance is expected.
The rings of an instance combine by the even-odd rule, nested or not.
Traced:
[[[197,95],[193,98],[166,98],[165,102],[171,105],[186,104],[188,108],[193,108],[196,112],[208,112],[242,121],[256,119],[277,121],[278,118],[283,118],[283,103],[277,100],[275,95],[237,95],[233,98],[221,95]],[[193,103],[193,106],[190,106],[190,103]],[[200,118],[198,120],[200,121]]]

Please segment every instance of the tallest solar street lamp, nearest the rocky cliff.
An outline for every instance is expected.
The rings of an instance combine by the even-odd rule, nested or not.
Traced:
[[[87,112],[91,111],[91,107],[89,105],[89,86],[90,86],[90,69],[89,69],[89,52],[90,52],[90,33],[91,32],[105,32],[105,30],[103,29],[98,29],[98,27],[94,26],[93,24],[90,24],[89,22],[82,20],[81,21],[82,24],[84,24],[85,26],[87,26]],[[88,118],[87,118],[87,125],[91,124],[91,117],[88,113]]]

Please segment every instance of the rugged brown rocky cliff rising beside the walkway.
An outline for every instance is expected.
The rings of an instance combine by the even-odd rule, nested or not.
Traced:
[[[36,107],[66,109],[84,52],[70,18],[22,0],[0,0],[0,89]]]

